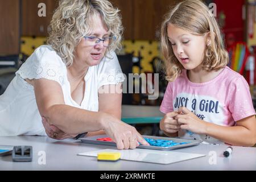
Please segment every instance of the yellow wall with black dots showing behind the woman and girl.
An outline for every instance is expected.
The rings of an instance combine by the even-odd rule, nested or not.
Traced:
[[[46,44],[45,37],[25,37],[21,38],[22,44],[20,46],[21,52],[25,55],[30,56],[34,50]],[[123,51],[125,53],[132,53],[134,52],[134,56],[139,56],[139,52],[141,52],[141,72],[153,72],[152,65],[150,61],[158,56],[160,57],[160,48],[159,42],[156,41],[146,41],[146,40],[125,40],[122,42]],[[139,68],[134,66],[133,73],[139,73]]]

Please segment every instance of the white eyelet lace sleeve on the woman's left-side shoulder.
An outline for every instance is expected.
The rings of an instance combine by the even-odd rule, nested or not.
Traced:
[[[46,78],[63,85],[65,64],[55,51],[39,47],[16,72],[23,79]]]

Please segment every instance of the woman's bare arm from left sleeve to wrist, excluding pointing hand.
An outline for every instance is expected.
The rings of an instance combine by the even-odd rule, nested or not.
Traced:
[[[52,80],[31,80],[36,104],[42,117],[51,125],[68,134],[79,134],[102,129],[102,114],[65,105],[61,86]]]

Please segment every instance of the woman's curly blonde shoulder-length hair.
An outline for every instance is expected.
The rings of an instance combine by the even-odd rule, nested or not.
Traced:
[[[58,53],[63,62],[72,65],[74,51],[83,36],[92,33],[92,17],[99,13],[103,22],[115,36],[107,51],[121,48],[122,22],[119,10],[108,0],[61,0],[50,23],[47,43]]]

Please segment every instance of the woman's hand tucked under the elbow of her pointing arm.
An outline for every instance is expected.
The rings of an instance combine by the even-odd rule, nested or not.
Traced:
[[[62,130],[58,129],[56,126],[50,125],[45,117],[42,117],[42,123],[43,123],[44,129],[46,129],[46,134],[50,138],[62,140],[65,138],[74,138],[77,136],[77,135],[70,135],[70,134],[64,133]]]

